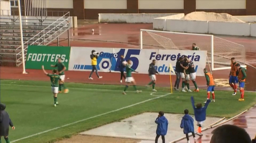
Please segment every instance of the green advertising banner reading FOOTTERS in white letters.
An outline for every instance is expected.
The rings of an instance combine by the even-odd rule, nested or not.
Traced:
[[[29,45],[26,69],[53,69],[51,65],[55,65],[60,57],[67,69],[69,69],[70,47],[54,47],[44,45]],[[66,69],[66,70],[67,70]]]

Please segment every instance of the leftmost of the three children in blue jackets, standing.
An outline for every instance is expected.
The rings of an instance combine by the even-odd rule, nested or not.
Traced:
[[[158,142],[158,138],[161,136],[163,143],[165,143],[164,136],[167,133],[168,129],[168,120],[164,117],[164,112],[160,111],[157,119],[155,119],[155,123],[157,124],[157,136],[155,137],[155,143]]]

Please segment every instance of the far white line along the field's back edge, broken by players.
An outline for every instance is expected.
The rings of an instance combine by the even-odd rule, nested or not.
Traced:
[[[51,88],[51,86],[29,86],[29,85],[19,85],[19,84],[0,84],[0,86],[22,86],[22,87],[43,87],[43,88]],[[110,92],[122,92],[121,90],[111,90],[111,89],[86,89],[86,88],[75,88],[70,87],[68,89],[80,89],[80,90],[101,90],[101,91],[110,91]],[[127,91],[127,92],[136,92],[136,91]],[[144,91],[143,91],[144,92]],[[151,93],[149,91],[145,91],[146,93]],[[158,93],[166,93],[166,92],[158,92]]]

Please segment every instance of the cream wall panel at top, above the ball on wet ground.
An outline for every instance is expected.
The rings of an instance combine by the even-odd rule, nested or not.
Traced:
[[[126,9],[126,0],[84,0],[85,9]]]

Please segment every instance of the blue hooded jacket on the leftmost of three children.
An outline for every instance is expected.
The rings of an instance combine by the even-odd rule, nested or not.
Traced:
[[[157,117],[157,119],[155,119],[155,123],[157,124],[157,135],[166,135],[168,129],[167,118],[164,116]]]

